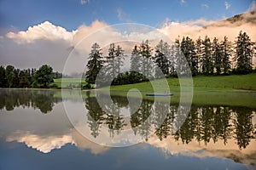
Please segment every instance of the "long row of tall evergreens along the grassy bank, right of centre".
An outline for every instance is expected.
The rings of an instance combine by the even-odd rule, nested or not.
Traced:
[[[125,51],[111,43],[108,55],[103,56],[99,44],[94,43],[86,65],[85,80],[95,83],[99,71],[104,69],[108,78],[115,77],[113,84],[143,82],[148,77],[161,78],[160,71],[155,70],[156,65],[165,77],[177,77],[177,71],[187,74],[185,66],[190,69],[192,76],[229,75],[231,72],[247,74],[253,71],[254,49],[255,44],[242,31],[235,42],[230,42],[228,37],[224,37],[223,41],[218,41],[216,37],[212,41],[209,37],[199,37],[196,41],[183,37],[172,45],[160,40],[152,48],[146,40],[132,49],[131,71],[120,73]]]

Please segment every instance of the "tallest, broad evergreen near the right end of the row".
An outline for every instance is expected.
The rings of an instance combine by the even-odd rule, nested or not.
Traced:
[[[240,31],[236,41],[236,72],[247,74],[253,71],[253,42],[246,32]]]

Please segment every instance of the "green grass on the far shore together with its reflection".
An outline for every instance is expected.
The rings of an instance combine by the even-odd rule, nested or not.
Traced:
[[[62,81],[62,87],[67,88],[70,84],[78,86],[80,79],[65,78]],[[146,97],[145,94],[165,93],[166,89],[162,88],[162,81],[163,80],[154,81],[156,86],[160,88],[159,92],[154,92],[151,82],[141,82],[136,84],[111,86],[111,94],[125,97],[131,88],[137,88],[141,92],[143,99],[154,99],[152,97]],[[171,98],[172,103],[179,103],[179,79],[168,78],[167,82],[169,84],[170,92],[174,94]],[[55,79],[54,83],[58,85],[58,87],[61,87],[61,79]],[[82,80],[82,84],[85,84],[84,80]],[[193,85],[194,105],[237,105],[256,108],[256,73],[240,76],[198,76],[193,77]],[[102,88],[103,92],[104,89],[105,88]],[[86,95],[84,93],[83,96],[85,97]],[[165,100],[165,98],[160,99]]]

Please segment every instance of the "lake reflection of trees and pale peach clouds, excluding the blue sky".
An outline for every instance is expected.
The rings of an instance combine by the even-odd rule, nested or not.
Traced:
[[[67,91],[64,99],[61,99],[61,92],[51,90],[0,89],[0,93],[0,137],[6,141],[25,143],[44,153],[65,144],[74,144],[81,150],[90,149],[96,154],[109,150],[84,139],[68,121],[59,104],[64,101],[76,104],[73,92]],[[100,97],[104,99],[104,95]],[[130,103],[124,97],[112,96],[112,99],[115,105],[105,105],[102,109],[95,94],[86,92],[84,105],[88,115],[84,120],[88,121],[93,138],[102,133],[102,128],[107,127],[111,137],[131,128],[145,143],[171,154],[228,157],[246,164],[256,160],[255,110],[251,108],[192,105],[183,125],[173,131],[183,118],[177,115],[178,105],[143,100],[137,110],[137,106],[133,107],[137,99],[129,100]],[[35,109],[51,114],[32,114]],[[163,113],[167,113],[166,116]],[[159,122],[163,123],[159,125]],[[157,130],[153,131],[152,127]],[[149,135],[151,133],[154,135]],[[192,151],[188,153],[188,150]]]

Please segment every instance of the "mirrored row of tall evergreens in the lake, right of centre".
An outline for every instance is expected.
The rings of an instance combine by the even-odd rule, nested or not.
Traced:
[[[103,99],[104,95],[100,97]],[[95,138],[104,124],[108,125],[110,136],[113,136],[113,129],[119,132],[127,126],[124,123],[125,116],[119,115],[120,108],[128,107],[126,98],[113,97],[115,105],[108,105],[112,115],[102,111],[96,97],[88,96],[84,100],[89,113],[87,116],[91,134]],[[156,110],[158,112],[154,112],[156,107],[160,108]],[[176,127],[179,120],[175,119],[177,107],[178,105],[168,107],[163,102],[143,100],[140,108],[130,118],[134,133],[148,141],[151,126],[159,127],[158,122],[164,118],[164,122],[154,132],[160,140],[172,135],[175,140],[180,140],[183,144],[196,140],[203,141],[207,145],[211,140],[214,143],[221,140],[227,144],[228,139],[234,138],[239,148],[246,148],[250,141],[256,138],[256,124],[253,125],[252,122],[254,114],[252,109],[217,105],[192,105],[183,125],[177,132],[172,133],[172,127]],[[166,117],[162,117],[164,112],[167,113]],[[154,115],[151,116],[153,119],[148,119],[151,114]]]

